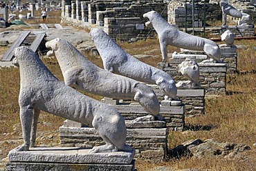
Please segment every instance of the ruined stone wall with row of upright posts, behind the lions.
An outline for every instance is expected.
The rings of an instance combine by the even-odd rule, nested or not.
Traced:
[[[75,26],[91,24],[104,27],[111,37],[118,39],[144,39],[150,28],[145,28],[147,19],[143,14],[151,10],[163,12],[167,19],[167,8],[163,1],[66,1],[62,0],[62,22]],[[165,9],[165,10],[164,10]],[[154,32],[149,35],[154,36]]]

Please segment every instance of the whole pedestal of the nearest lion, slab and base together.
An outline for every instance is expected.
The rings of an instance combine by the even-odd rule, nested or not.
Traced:
[[[89,154],[87,148],[37,147],[8,154],[6,170],[134,170],[134,151]]]

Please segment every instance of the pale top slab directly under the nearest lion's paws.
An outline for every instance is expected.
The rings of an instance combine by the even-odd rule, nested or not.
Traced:
[[[128,164],[134,157],[130,152],[104,152],[89,154],[89,148],[76,147],[38,147],[29,151],[11,150],[10,162],[46,162],[46,163],[108,163]]]

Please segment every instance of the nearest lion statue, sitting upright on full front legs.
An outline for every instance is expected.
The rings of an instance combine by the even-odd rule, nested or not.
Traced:
[[[115,108],[66,86],[30,48],[21,46],[14,50],[14,54],[14,63],[19,66],[21,77],[19,106],[24,139],[24,144],[17,150],[28,150],[35,145],[40,110],[92,125],[106,144],[94,147],[91,153],[132,150],[125,144],[125,119]]]

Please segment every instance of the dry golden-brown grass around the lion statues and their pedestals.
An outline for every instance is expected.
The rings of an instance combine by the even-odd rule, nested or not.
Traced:
[[[145,63],[156,66],[161,61],[161,52],[157,40],[148,39],[136,43],[118,42],[130,54],[151,54],[154,57],[141,59]],[[202,116],[185,119],[187,130],[184,132],[170,132],[168,138],[169,148],[190,139],[217,139],[232,143],[246,143],[252,150],[243,154],[244,159],[192,159],[182,158],[161,163],[150,161],[136,161],[136,168],[150,170],[156,166],[167,165],[173,170],[195,168],[199,170],[255,170],[256,152],[253,143],[256,143],[256,62],[255,50],[251,49],[256,41],[236,41],[249,47],[248,50],[238,50],[238,70],[240,74],[228,76],[228,95],[213,99],[206,99],[205,114]],[[168,47],[169,52],[179,51],[174,47]],[[93,63],[102,67],[102,61],[98,58],[85,55]],[[63,80],[56,59],[44,59],[46,66]],[[12,79],[10,79],[12,78]],[[0,69],[0,137],[3,157],[8,151],[21,144],[21,128],[19,125],[19,70],[18,68]],[[89,94],[91,96],[91,94]],[[95,99],[101,97],[92,96]],[[37,139],[40,144],[56,145],[59,143],[57,129],[64,119],[52,114],[42,112],[39,118]],[[207,129],[206,129],[207,128]],[[9,141],[7,141],[9,140]],[[38,143],[37,142],[37,143]]]

